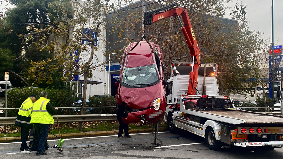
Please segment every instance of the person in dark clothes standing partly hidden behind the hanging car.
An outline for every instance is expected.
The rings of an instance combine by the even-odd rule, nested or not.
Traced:
[[[120,124],[118,137],[123,138],[123,136],[122,136],[123,130],[125,131],[125,137],[132,137],[132,136],[129,135],[129,124],[126,124],[122,121],[122,117],[125,118],[125,116],[126,116],[125,109],[123,109],[122,106],[120,106],[119,104],[116,104],[116,108],[117,108],[117,111],[116,111],[117,120]]]

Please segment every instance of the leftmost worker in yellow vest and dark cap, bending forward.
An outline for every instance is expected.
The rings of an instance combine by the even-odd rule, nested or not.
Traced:
[[[30,152],[31,149],[27,147],[27,138],[29,137],[29,129],[33,128],[31,121],[31,107],[33,103],[38,100],[36,94],[31,94],[29,98],[23,101],[19,113],[16,118],[15,125],[21,127],[21,139],[22,145],[20,148],[21,152]]]

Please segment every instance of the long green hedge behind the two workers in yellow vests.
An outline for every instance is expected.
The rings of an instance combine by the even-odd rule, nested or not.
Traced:
[[[78,101],[77,94],[72,91],[64,91],[58,89],[43,89],[43,88],[14,88],[8,91],[7,94],[7,108],[20,108],[22,102],[26,100],[31,94],[37,94],[39,97],[40,92],[46,91],[48,99],[54,107],[72,107],[73,103]],[[8,117],[15,117],[18,110],[8,110]],[[73,115],[76,114],[75,109],[59,109],[59,115]]]

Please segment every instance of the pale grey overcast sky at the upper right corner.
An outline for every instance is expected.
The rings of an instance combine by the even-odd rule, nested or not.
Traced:
[[[228,3],[228,7],[233,7],[237,0]],[[246,6],[246,17],[250,30],[264,33],[265,38],[271,40],[271,0],[239,0]],[[274,0],[274,44],[283,45],[283,0]],[[228,12],[225,18],[228,17]]]

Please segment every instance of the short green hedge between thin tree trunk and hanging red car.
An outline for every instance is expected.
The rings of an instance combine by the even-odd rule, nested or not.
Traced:
[[[110,95],[100,96],[100,97],[91,97],[89,96],[89,105],[90,107],[115,107],[116,98]],[[116,108],[95,108],[87,109],[86,114],[116,114]]]

